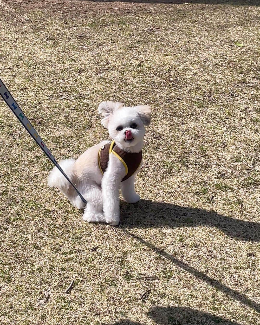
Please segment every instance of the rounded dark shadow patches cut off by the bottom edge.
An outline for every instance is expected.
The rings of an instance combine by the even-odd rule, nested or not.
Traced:
[[[241,325],[228,319],[217,317],[212,314],[203,313],[199,310],[184,307],[154,307],[147,314],[155,324],[168,325]],[[124,319],[111,325],[143,325],[130,319]]]

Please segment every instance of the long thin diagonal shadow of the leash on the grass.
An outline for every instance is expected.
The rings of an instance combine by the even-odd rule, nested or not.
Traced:
[[[254,302],[253,300],[251,300],[248,297],[242,295],[241,293],[239,293],[236,290],[228,288],[227,286],[222,284],[220,281],[218,281],[216,279],[212,279],[211,277],[207,276],[205,273],[197,270],[196,268],[193,268],[193,267],[189,266],[187,263],[184,263],[181,260],[178,260],[173,255],[166,253],[165,251],[163,251],[160,248],[154,246],[153,244],[149,243],[148,241],[142,239],[141,237],[131,233],[130,231],[128,231],[126,229],[123,229],[123,228],[121,228],[121,229],[123,230],[123,232],[125,234],[127,234],[128,236],[131,236],[132,238],[134,238],[134,239],[138,240],[139,242],[141,242],[142,244],[146,245],[147,247],[149,247],[149,249],[153,250],[159,256],[164,257],[168,261],[174,263],[179,268],[189,272],[190,274],[192,274],[196,278],[203,280],[204,282],[208,283],[212,287],[214,287],[217,290],[219,290],[219,291],[223,292],[224,294],[228,295],[233,300],[237,300],[240,303],[242,303],[242,304],[256,310],[257,312],[260,312],[260,304],[259,303]]]

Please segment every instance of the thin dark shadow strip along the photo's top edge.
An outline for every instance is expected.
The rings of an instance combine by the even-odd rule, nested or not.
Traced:
[[[86,2],[87,0],[80,0]],[[153,3],[181,5],[184,3],[205,4],[205,5],[232,5],[232,6],[259,6],[258,0],[106,0],[105,2],[129,2],[129,3]],[[93,2],[104,2],[104,0],[94,0]]]

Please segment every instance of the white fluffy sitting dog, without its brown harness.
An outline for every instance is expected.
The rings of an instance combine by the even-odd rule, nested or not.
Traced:
[[[144,126],[148,126],[151,121],[150,106],[125,107],[123,103],[109,101],[101,103],[98,111],[104,116],[101,124],[108,128],[115,146],[130,153],[138,153],[142,150]],[[103,174],[99,167],[98,155],[100,148],[103,149],[103,146],[109,142],[102,141],[87,149],[77,160],[66,159],[60,162],[61,168],[87,201],[86,206],[56,167],[48,177],[48,186],[59,188],[75,207],[85,208],[83,220],[118,225],[119,190],[121,188],[122,195],[128,203],[139,201],[140,197],[135,192],[134,181],[141,164],[131,177],[122,182],[127,174],[126,168],[123,162],[111,152]]]

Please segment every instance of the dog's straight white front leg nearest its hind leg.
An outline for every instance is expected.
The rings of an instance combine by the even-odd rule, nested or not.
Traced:
[[[109,155],[108,167],[102,178],[103,211],[106,223],[116,226],[119,224],[119,188],[125,176],[123,163],[113,154]]]

